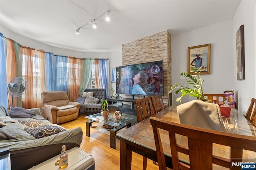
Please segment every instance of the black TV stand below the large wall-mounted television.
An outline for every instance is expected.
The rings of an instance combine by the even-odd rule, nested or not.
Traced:
[[[111,101],[111,105],[109,105],[110,113],[114,113],[116,110],[119,110],[124,113],[137,115],[136,109],[133,107],[133,100],[132,98],[108,98],[108,101]],[[115,102],[115,103],[114,103]],[[118,105],[118,102],[129,102],[131,104],[120,104]]]

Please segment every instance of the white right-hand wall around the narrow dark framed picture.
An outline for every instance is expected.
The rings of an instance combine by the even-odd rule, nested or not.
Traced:
[[[244,25],[245,80],[234,78],[238,98],[238,109],[246,113],[251,98],[256,98],[256,56],[255,56],[255,3],[256,0],[242,0],[233,18],[233,72],[236,74],[236,31]]]

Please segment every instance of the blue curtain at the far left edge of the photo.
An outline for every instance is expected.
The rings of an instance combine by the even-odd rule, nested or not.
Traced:
[[[6,82],[6,63],[4,53],[3,34],[0,33],[0,105],[7,109],[7,82]]]

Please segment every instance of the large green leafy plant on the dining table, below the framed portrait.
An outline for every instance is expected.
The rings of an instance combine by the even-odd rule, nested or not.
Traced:
[[[206,101],[207,99],[204,98],[204,92],[202,88],[202,83],[204,82],[203,78],[200,78],[202,67],[196,69],[196,68],[190,68],[191,72],[195,73],[195,75],[188,74],[188,72],[182,72],[180,73],[180,76],[183,76],[186,78],[188,84],[191,84],[193,88],[189,88],[186,86],[186,84],[182,85],[180,83],[180,86],[178,86],[176,83],[171,87],[172,92],[175,90],[175,93],[178,94],[181,92],[181,96],[176,99],[177,102],[181,102],[181,98],[186,95],[190,95],[192,97],[197,97],[199,100]]]

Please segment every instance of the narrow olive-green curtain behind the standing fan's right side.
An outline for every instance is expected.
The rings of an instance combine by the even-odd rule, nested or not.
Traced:
[[[22,77],[22,62],[20,56],[20,43],[14,41],[15,57],[16,57],[16,66],[17,66],[17,77]],[[22,96],[17,97],[17,106],[22,107]]]

